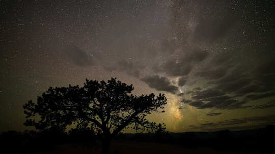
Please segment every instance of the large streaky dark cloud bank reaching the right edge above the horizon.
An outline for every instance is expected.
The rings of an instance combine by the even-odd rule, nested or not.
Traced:
[[[203,86],[204,91],[189,91],[193,101],[202,101],[202,106],[197,108],[217,108],[217,109],[241,109],[252,108],[244,105],[251,100],[258,100],[275,95],[275,71],[270,67],[274,62],[269,61],[260,66],[246,67],[243,65],[233,65],[236,59],[230,57],[234,52],[225,55],[215,55],[204,67],[201,67],[195,76],[202,77],[209,81]],[[207,89],[211,87],[211,89]],[[187,93],[185,93],[187,94]],[[226,95],[229,94],[229,95]],[[243,96],[244,99],[243,99]],[[184,97],[184,95],[181,95]],[[268,107],[272,105],[267,105]],[[257,107],[258,108],[258,107]]]

